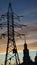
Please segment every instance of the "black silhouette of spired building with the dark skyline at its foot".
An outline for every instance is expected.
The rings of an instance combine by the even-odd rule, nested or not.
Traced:
[[[35,56],[35,61],[33,62],[29,56],[29,49],[27,48],[27,43],[24,43],[23,49],[23,62],[20,65],[37,65],[37,53]]]

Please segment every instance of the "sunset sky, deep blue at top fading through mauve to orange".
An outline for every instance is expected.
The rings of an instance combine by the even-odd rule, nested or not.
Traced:
[[[17,15],[23,15],[23,18],[20,18],[20,22],[17,23],[27,25],[26,28],[20,31],[20,33],[26,34],[26,42],[28,44],[29,50],[37,50],[37,0],[0,0],[0,15],[4,14],[8,11],[9,2],[12,4],[13,12]],[[0,21],[1,23],[1,21]],[[0,31],[4,32],[6,29]],[[6,42],[6,43],[5,43]],[[25,38],[16,39],[17,49],[19,51],[23,51],[23,45],[25,42]],[[7,38],[0,39],[0,54],[6,51]],[[0,55],[1,56],[1,55]],[[32,54],[33,56],[33,54]],[[35,52],[34,52],[35,56]]]

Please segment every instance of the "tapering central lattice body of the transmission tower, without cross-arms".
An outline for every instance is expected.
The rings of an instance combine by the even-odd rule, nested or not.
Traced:
[[[14,15],[12,11],[11,3],[9,3],[8,12],[7,12],[7,33],[8,33],[8,41],[7,41],[7,49],[6,49],[6,57],[4,65],[11,65],[13,63],[12,59],[16,63],[16,65],[20,64],[17,47],[15,43],[15,34],[14,34]]]

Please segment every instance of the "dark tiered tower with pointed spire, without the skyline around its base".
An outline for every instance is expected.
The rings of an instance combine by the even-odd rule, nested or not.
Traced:
[[[30,62],[29,50],[27,48],[26,41],[25,41],[24,50],[23,50],[23,62],[26,62],[26,63]]]

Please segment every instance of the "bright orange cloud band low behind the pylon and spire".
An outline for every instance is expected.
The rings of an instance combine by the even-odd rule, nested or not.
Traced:
[[[27,45],[28,45],[28,49],[29,50],[37,50],[37,44],[36,43],[34,43],[34,44],[27,44]],[[19,52],[23,51],[23,48],[24,48],[23,45],[18,45],[17,46],[17,50]],[[0,48],[0,53],[6,53],[6,46]]]

